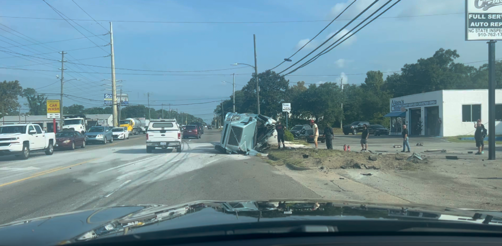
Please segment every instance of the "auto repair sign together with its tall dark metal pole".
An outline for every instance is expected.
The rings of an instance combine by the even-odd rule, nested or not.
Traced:
[[[488,41],[488,159],[495,160],[495,43],[502,40],[502,1],[465,0],[465,40]]]

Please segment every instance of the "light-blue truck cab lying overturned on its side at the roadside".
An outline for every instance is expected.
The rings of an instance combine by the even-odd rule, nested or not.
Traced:
[[[270,138],[276,137],[275,124],[273,118],[261,114],[229,112],[225,115],[219,145],[214,149],[227,154],[260,152],[268,146]]]

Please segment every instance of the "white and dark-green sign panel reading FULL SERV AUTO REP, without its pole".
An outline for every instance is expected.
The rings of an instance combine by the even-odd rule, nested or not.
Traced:
[[[465,0],[465,40],[502,40],[502,0]]]

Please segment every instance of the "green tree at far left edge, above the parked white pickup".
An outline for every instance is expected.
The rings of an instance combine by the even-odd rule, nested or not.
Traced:
[[[18,80],[0,82],[0,111],[2,116],[4,113],[11,113],[18,110],[18,96],[22,96],[23,87]]]

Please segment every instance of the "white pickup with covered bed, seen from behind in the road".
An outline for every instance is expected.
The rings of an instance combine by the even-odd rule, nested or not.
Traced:
[[[181,152],[181,132],[176,119],[152,119],[147,130],[147,153],[155,148],[176,148]]]

